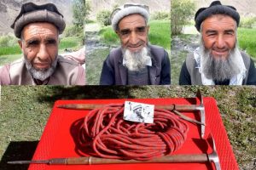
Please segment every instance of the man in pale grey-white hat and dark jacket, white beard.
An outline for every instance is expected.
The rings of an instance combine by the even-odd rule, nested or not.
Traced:
[[[149,45],[148,6],[125,4],[113,11],[113,30],[121,47],[102,67],[101,85],[170,84],[170,59],[164,48]]]

